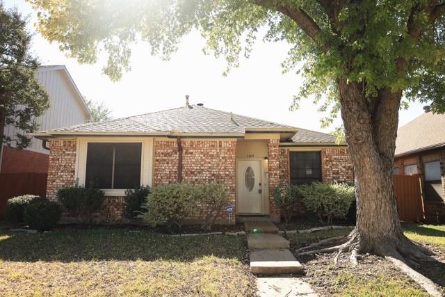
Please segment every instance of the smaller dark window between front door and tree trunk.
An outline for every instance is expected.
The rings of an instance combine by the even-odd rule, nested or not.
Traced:
[[[291,184],[321,182],[320,152],[290,152]]]

